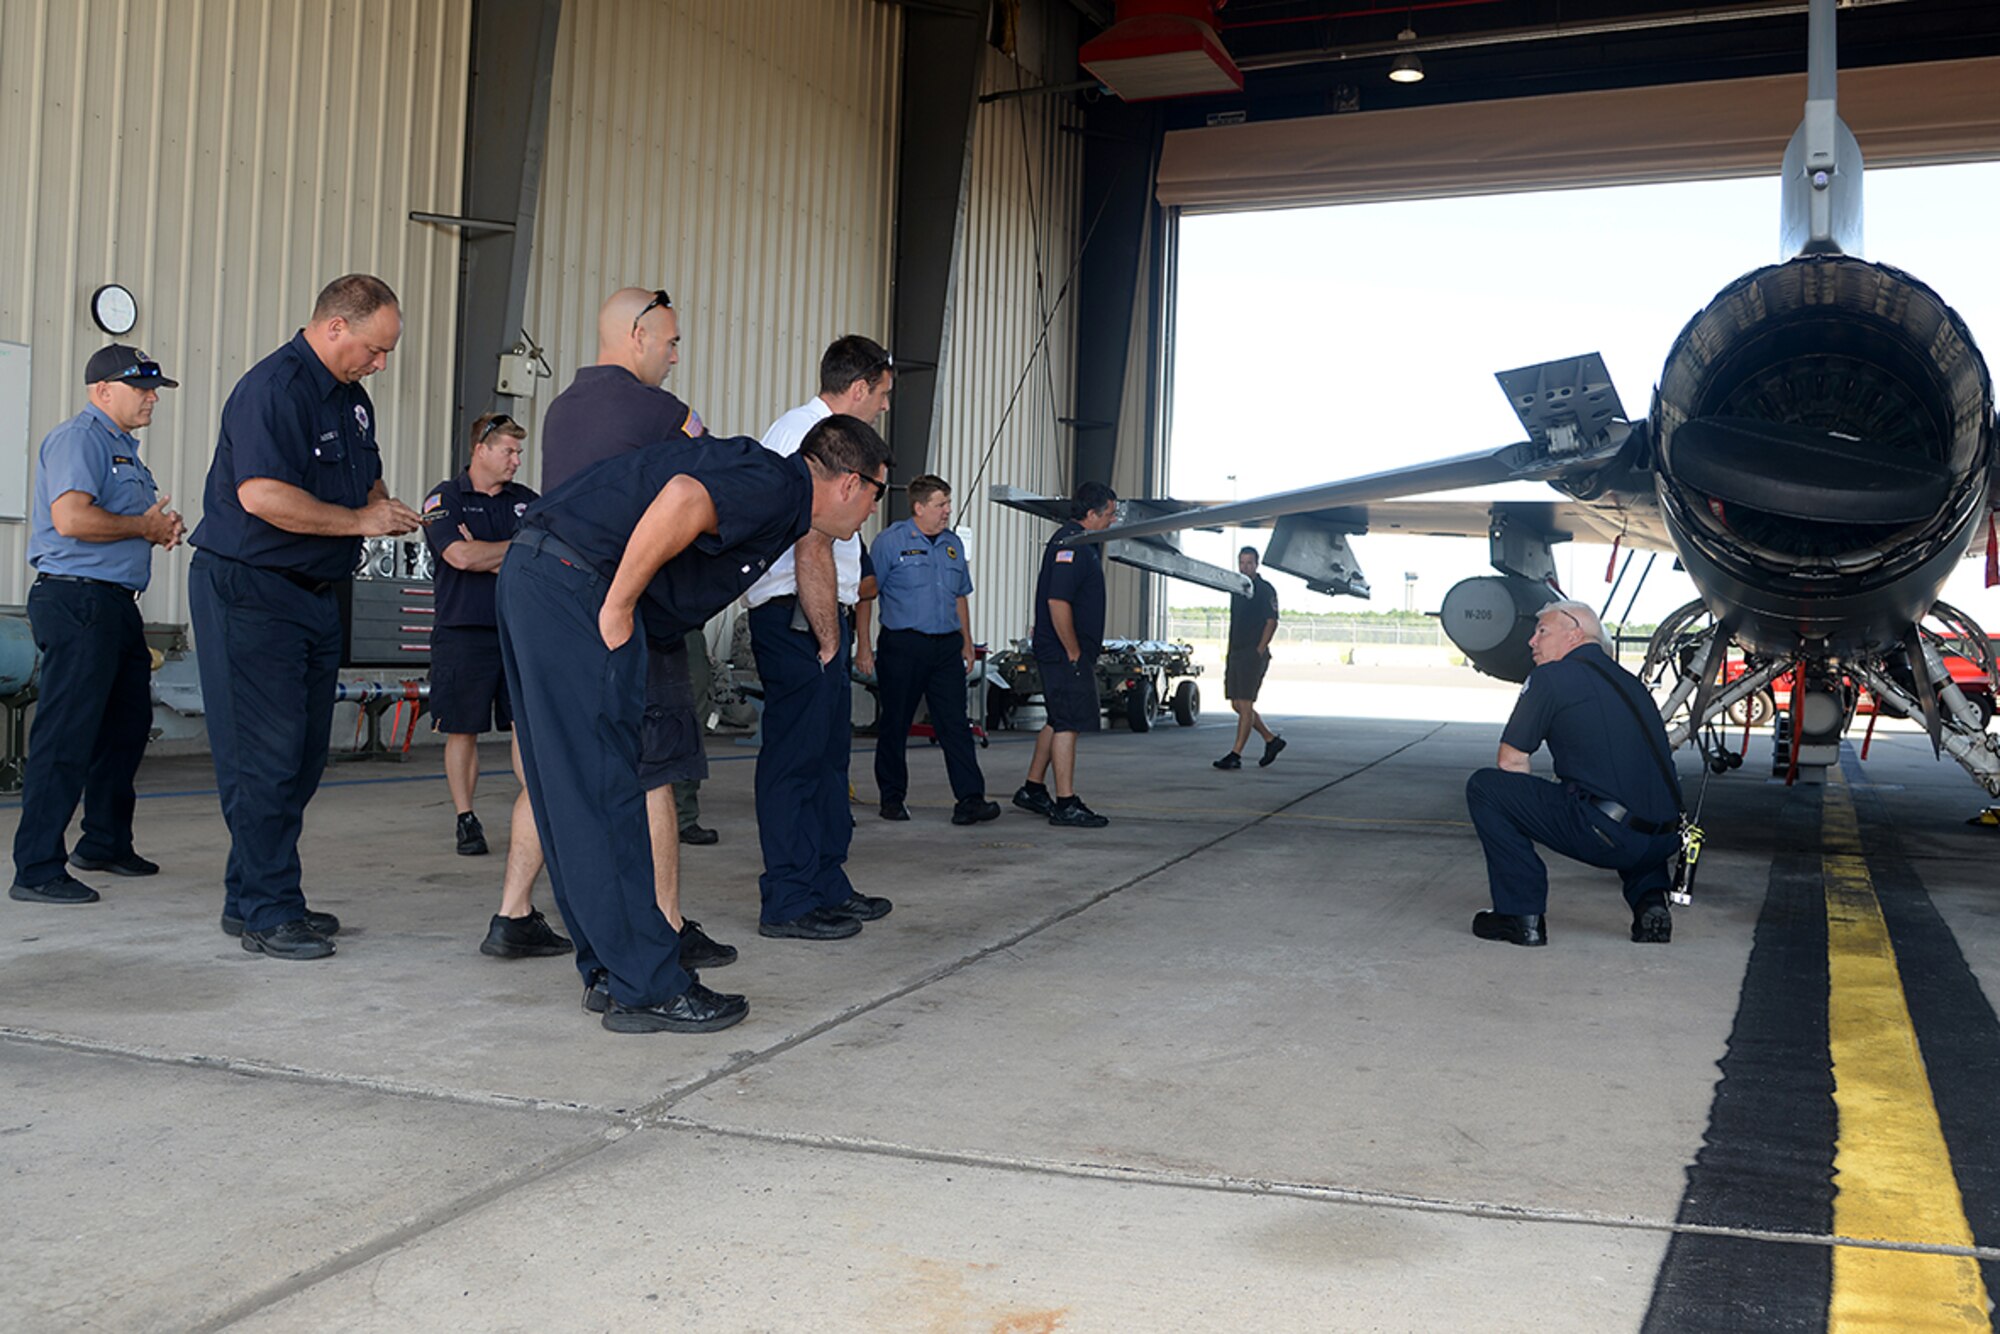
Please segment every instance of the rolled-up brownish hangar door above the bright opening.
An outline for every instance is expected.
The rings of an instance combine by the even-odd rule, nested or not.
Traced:
[[[2000,60],[1842,70],[1870,166],[2000,156]],[[1160,202],[1284,208],[1772,172],[1806,76],[1270,120],[1166,136]]]

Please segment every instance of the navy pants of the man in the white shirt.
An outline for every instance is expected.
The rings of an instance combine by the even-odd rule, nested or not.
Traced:
[[[792,630],[790,598],[750,608],[750,646],[764,682],[764,746],[756,756],[764,922],[790,922],[854,894],[846,872],[854,838],[848,814],[850,640],[842,620],[840,652],[820,666],[818,638]]]

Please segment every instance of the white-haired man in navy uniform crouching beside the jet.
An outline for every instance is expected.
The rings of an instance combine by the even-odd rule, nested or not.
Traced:
[[[1674,936],[1668,858],[1680,830],[1680,780],[1652,696],[1606,652],[1604,626],[1582,602],[1552,602],[1534,622],[1534,670],[1500,734],[1498,768],[1466,780],[1472,828],[1486,850],[1492,912],[1480,940],[1548,944],[1548,868],[1534,844],[1616,870],[1632,904],[1632,940]],[[1548,742],[1558,782],[1528,756]]]

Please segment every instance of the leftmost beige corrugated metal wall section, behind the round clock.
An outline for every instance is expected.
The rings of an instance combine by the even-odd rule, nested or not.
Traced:
[[[166,390],[144,458],[188,524],[222,400],[368,270],[404,302],[370,382],[390,486],[450,454],[468,0],[0,0],[0,340],[34,348],[30,450],[84,406],[102,282],[138,296],[130,342]],[[144,612],[186,620],[186,548]],[[28,584],[26,524],[0,524],[0,602]]]

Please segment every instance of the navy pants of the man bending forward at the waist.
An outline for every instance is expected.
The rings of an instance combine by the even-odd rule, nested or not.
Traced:
[[[604,648],[608,580],[552,546],[508,548],[496,590],[514,736],[556,908],[576,970],[602,968],[612,1000],[650,1006],[688,990],[680,934],[654,898],[638,736],[646,634]]]

